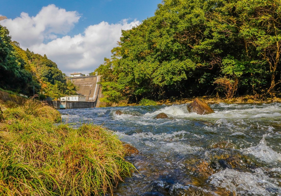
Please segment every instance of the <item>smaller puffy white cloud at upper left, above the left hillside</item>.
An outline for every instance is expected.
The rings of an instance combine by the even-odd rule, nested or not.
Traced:
[[[22,48],[47,42],[57,38],[57,34],[66,35],[80,16],[76,11],[59,9],[54,4],[43,7],[36,16],[22,12],[20,17],[1,22],[10,31],[13,40]]]

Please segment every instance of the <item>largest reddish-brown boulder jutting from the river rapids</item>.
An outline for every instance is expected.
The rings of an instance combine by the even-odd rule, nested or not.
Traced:
[[[195,112],[200,115],[215,113],[206,102],[198,98],[195,98],[194,101],[187,106],[187,110],[189,113]]]

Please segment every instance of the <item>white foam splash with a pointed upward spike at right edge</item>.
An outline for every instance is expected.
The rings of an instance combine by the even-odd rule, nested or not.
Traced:
[[[263,160],[267,163],[281,163],[281,153],[277,153],[266,145],[265,137],[270,136],[269,134],[264,134],[261,141],[257,146],[252,146],[250,148],[241,149],[243,154],[253,155],[256,158]]]

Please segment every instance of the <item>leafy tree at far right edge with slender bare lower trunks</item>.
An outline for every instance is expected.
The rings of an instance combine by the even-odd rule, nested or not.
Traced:
[[[261,57],[260,63],[267,62],[271,80],[267,92],[272,93],[274,87],[281,83],[281,2],[240,0],[236,8],[241,23],[239,36],[246,40],[246,45],[254,46]]]

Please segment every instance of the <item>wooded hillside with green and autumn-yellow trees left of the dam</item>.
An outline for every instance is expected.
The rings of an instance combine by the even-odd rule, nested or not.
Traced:
[[[0,25],[0,88],[28,96],[33,96],[34,90],[40,99],[77,94],[76,86],[66,82],[65,76],[46,55],[21,49]]]

